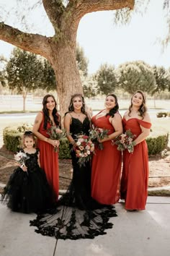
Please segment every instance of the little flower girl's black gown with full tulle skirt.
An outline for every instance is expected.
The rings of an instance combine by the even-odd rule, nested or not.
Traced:
[[[37,164],[38,152],[37,149],[35,153],[26,153],[27,171],[22,171],[20,167],[14,169],[4,187],[1,200],[12,211],[40,213],[51,205],[51,192],[45,172]]]

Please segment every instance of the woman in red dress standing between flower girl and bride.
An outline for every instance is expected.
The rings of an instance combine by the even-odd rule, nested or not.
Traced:
[[[58,171],[58,152],[54,147],[58,147],[58,140],[51,140],[47,134],[51,125],[60,127],[60,116],[57,112],[57,103],[53,95],[45,95],[42,101],[42,111],[36,118],[32,132],[37,137],[37,148],[40,150],[40,166],[44,169],[48,183],[52,189],[52,200],[58,200],[59,191],[59,171]]]

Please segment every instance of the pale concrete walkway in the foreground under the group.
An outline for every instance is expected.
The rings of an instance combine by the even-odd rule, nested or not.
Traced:
[[[12,213],[0,203],[1,256],[169,256],[170,197],[148,197],[146,210],[116,205],[114,226],[95,239],[56,240],[35,233],[35,214]]]

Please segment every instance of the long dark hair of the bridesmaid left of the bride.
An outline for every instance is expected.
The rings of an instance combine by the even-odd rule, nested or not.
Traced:
[[[48,103],[48,98],[52,97],[54,102],[55,102],[55,108],[53,108],[53,118],[54,118],[54,122],[56,124],[56,126],[60,126],[60,121],[59,121],[59,115],[58,115],[58,111],[57,111],[57,103],[55,101],[55,98],[52,94],[47,94],[44,96],[43,100],[42,100],[42,111],[44,113],[44,129],[47,129],[48,126],[48,121],[50,121],[50,116],[49,116],[49,112],[48,112],[48,108],[46,106],[46,104]]]

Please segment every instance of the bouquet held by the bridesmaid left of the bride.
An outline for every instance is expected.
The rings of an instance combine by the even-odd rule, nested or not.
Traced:
[[[55,125],[51,125],[51,127],[47,131],[47,134],[50,135],[51,140],[61,140],[66,137],[66,130],[60,129]],[[54,151],[58,152],[58,147],[55,147]]]

